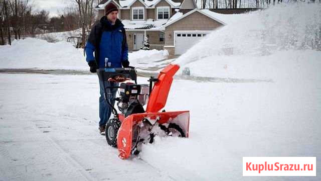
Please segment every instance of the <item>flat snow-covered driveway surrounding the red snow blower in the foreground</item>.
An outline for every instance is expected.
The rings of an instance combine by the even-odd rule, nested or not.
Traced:
[[[156,138],[140,158],[121,160],[98,134],[95,75],[1,74],[0,180],[293,180],[242,177],[241,162],[242,156],[320,162],[320,86],[309,80],[176,79],[166,110],[191,111],[190,138]]]

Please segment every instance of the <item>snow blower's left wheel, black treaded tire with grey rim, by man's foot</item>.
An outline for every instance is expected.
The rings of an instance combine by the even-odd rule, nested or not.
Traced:
[[[120,128],[120,121],[112,118],[106,124],[105,135],[108,145],[117,148],[117,133]]]

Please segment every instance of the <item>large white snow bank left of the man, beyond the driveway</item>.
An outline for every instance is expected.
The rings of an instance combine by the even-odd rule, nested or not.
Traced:
[[[64,41],[27,38],[0,48],[0,68],[87,69],[80,51]]]

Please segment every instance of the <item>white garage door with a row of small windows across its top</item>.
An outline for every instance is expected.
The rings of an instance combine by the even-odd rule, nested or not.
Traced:
[[[182,55],[208,32],[175,33],[175,55]]]

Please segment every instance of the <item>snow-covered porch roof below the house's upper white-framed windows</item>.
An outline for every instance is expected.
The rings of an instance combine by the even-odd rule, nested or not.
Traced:
[[[153,21],[152,19],[148,19],[147,21],[130,21],[130,20],[121,21],[125,29],[149,29],[149,30],[156,30],[159,27],[166,24],[166,22],[167,20]]]

